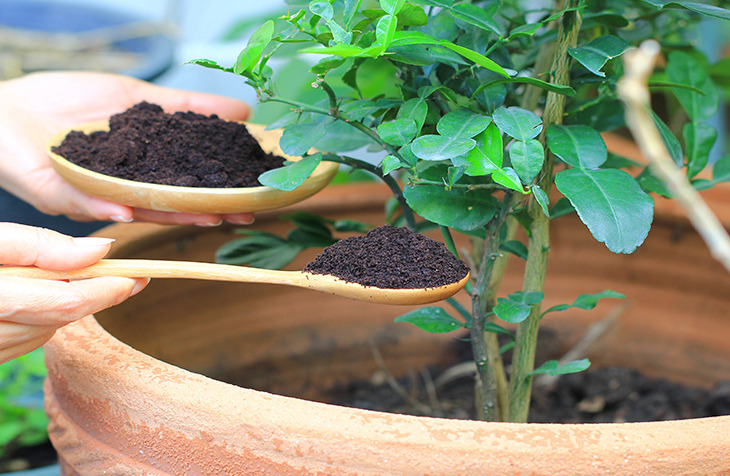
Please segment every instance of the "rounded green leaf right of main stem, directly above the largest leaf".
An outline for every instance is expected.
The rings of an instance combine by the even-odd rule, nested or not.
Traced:
[[[592,127],[550,126],[547,130],[550,151],[563,162],[583,169],[597,169],[608,158],[606,143]]]

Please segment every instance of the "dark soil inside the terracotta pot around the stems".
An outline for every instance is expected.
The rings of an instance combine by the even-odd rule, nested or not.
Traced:
[[[476,419],[473,374],[444,379],[448,374],[429,368],[394,379],[381,370],[369,381],[333,392],[329,402],[407,415]],[[536,380],[528,421],[624,423],[721,415],[730,415],[730,381],[701,389],[608,367],[563,375],[551,384]]]

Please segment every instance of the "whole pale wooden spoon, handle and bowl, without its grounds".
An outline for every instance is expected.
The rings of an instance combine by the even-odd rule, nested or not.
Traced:
[[[299,286],[336,294],[360,301],[381,304],[427,304],[456,294],[469,280],[467,274],[457,281],[435,288],[384,289],[344,281],[326,274],[303,271],[276,271],[192,261],[105,259],[87,268],[72,271],[50,271],[35,267],[0,266],[0,276],[37,279],[86,279],[100,276],[127,278],[184,278],[242,283],[269,283]]]

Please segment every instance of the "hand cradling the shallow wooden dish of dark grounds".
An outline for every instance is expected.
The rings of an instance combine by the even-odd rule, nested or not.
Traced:
[[[108,119],[142,100],[159,104],[166,112],[190,110],[227,120],[244,120],[249,114],[248,106],[236,99],[113,74],[35,73],[0,82],[0,187],[44,213],[78,221],[250,224],[251,213],[168,213],[107,202],[77,191],[53,170],[46,152],[53,134],[82,122]]]

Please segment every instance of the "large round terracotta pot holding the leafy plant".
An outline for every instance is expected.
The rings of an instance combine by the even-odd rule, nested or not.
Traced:
[[[708,195],[722,205],[727,193]],[[380,223],[386,196],[376,185],[331,187],[295,208]],[[261,213],[254,226],[286,230],[277,219],[291,210]],[[709,387],[730,377],[730,279],[673,214],[659,204],[633,256],[608,252],[575,217],[556,221],[547,305],[606,288],[627,294],[631,308],[590,356],[596,365]],[[115,257],[191,260],[211,260],[233,237],[225,228],[150,225],[102,235],[118,239]],[[517,261],[507,288],[519,285]],[[614,305],[546,318],[555,351]],[[155,281],[46,346],[50,435],[64,474],[730,472],[730,417],[506,424],[317,402],[378,369],[372,345],[394,374],[454,362],[453,336],[392,322],[405,310],[284,286]],[[234,381],[241,386],[224,383]]]

